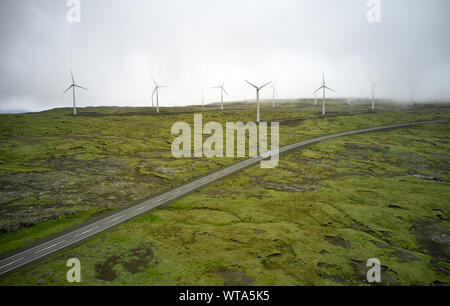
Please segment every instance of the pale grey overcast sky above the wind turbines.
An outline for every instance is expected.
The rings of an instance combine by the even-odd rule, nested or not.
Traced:
[[[0,111],[79,106],[161,106],[253,99],[245,79],[276,81],[280,98],[311,97],[327,85],[346,97],[450,98],[450,1],[81,0],[69,23],[66,0],[0,1]],[[261,92],[270,97],[270,90]]]

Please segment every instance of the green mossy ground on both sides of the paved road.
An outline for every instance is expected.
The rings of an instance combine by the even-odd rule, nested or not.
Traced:
[[[267,107],[265,114],[317,115],[305,105]],[[445,106],[382,110],[350,116],[336,102],[330,111],[340,116],[282,122],[281,144],[450,115]],[[170,127],[191,122],[192,113],[134,111],[88,109],[93,114],[74,118],[54,110],[2,120],[3,224],[14,220],[12,212],[20,220],[49,212],[47,221],[2,235],[3,252],[233,162],[171,158]],[[254,119],[253,109],[225,114],[205,111],[203,121]],[[67,284],[71,257],[82,263],[82,285],[365,284],[373,257],[383,266],[382,284],[449,284],[449,132],[449,124],[423,125],[291,152],[275,169],[258,165],[215,182],[3,276],[0,285]]]

